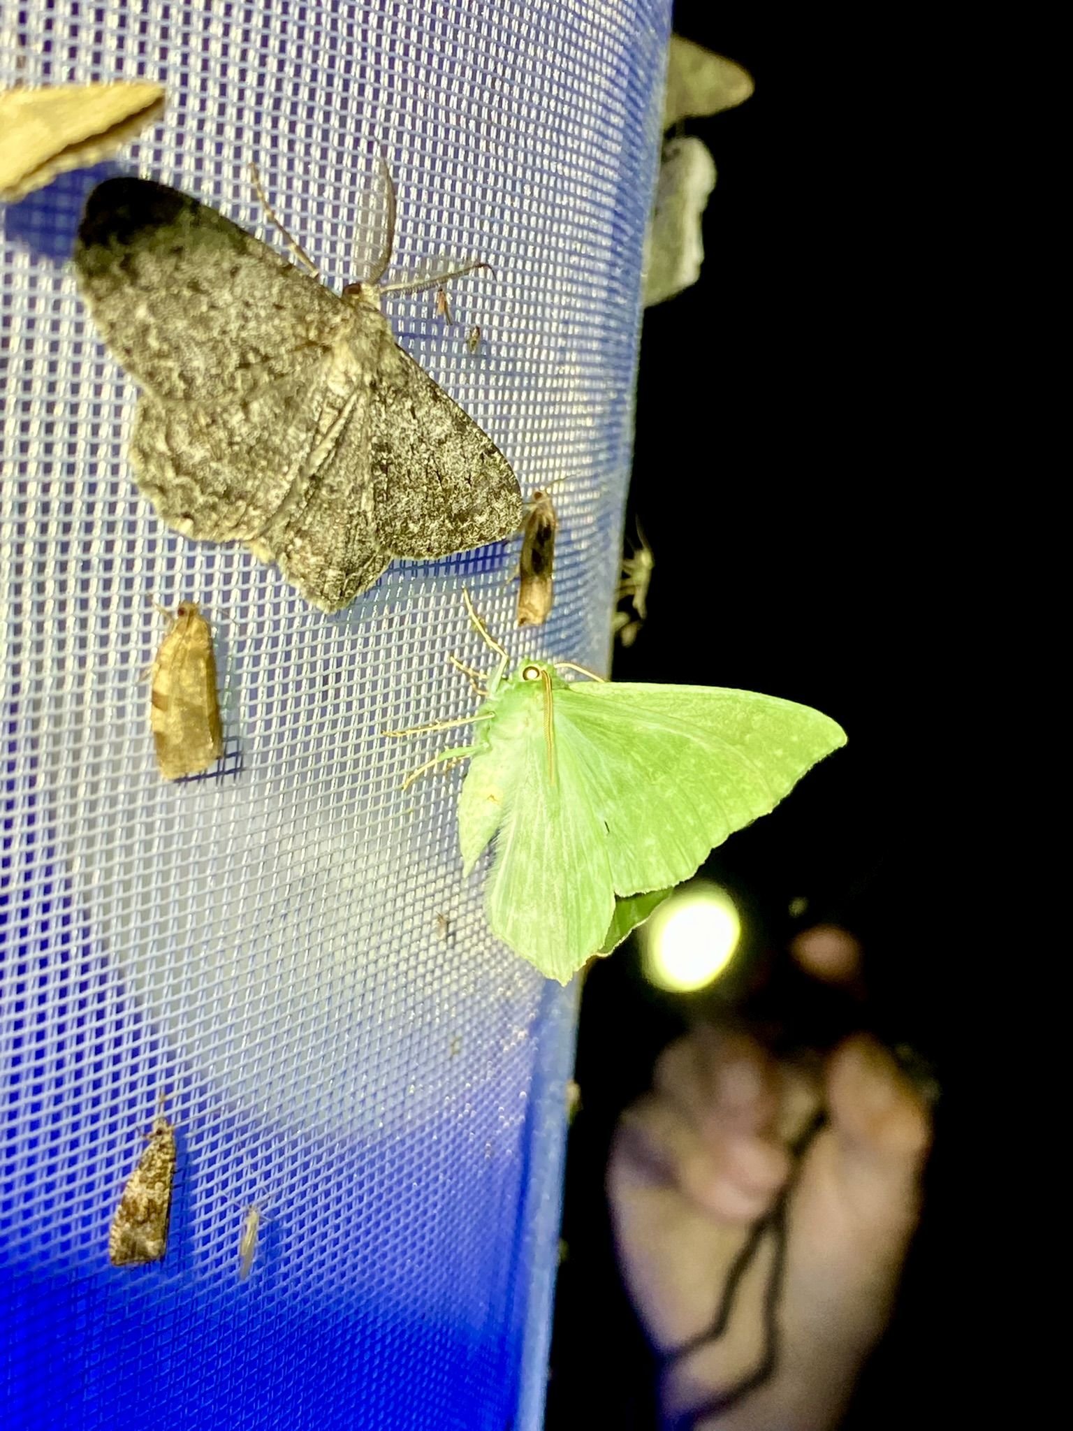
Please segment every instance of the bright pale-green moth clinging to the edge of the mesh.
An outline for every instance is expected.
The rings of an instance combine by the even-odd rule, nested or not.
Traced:
[[[488,923],[559,983],[846,744],[820,711],[754,691],[612,684],[569,661],[522,661],[508,675],[508,653],[468,597],[466,610],[499,657],[478,687],[484,704],[469,720],[385,734],[476,724],[472,746],[441,751],[406,783],[469,758],[458,801],[465,873],[495,840]]]

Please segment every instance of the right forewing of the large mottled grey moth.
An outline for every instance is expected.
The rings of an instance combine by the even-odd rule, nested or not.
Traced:
[[[393,341],[372,389],[371,436],[376,529],[393,557],[446,557],[518,529],[511,464]]]

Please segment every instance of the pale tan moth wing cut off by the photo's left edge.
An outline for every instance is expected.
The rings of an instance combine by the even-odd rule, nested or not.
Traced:
[[[69,169],[114,155],[159,119],[162,84],[56,84],[0,94],[0,200],[11,203]]]

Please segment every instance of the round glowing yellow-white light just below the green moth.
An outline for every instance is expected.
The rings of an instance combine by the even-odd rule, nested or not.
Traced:
[[[694,880],[660,906],[642,929],[641,966],[657,989],[692,993],[722,973],[741,937],[741,919],[718,884]]]

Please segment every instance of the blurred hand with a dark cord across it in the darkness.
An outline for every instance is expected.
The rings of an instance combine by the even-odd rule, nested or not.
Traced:
[[[833,983],[860,977],[860,947],[841,930],[798,936],[793,953]],[[798,1159],[791,1149],[817,1113],[824,1120]],[[778,1063],[751,1037],[711,1027],[664,1050],[652,1092],[621,1119],[608,1195],[625,1282],[652,1344],[664,1357],[688,1348],[668,1362],[661,1388],[671,1420],[711,1431],[837,1425],[890,1315],[929,1139],[923,1099],[863,1035],[811,1066]],[[784,1265],[771,1222],[712,1337],[728,1275],[780,1199]],[[773,1285],[777,1334],[765,1309]],[[720,1411],[771,1351],[764,1382]]]

